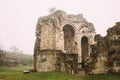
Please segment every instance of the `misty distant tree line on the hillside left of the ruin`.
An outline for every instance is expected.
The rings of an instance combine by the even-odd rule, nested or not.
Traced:
[[[6,51],[0,48],[0,66],[16,67],[16,66],[31,66],[33,64],[33,56],[23,54],[22,51],[17,51],[17,48],[12,47],[13,51]]]

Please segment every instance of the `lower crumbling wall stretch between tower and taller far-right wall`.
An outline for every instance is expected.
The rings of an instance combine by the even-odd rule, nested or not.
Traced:
[[[92,53],[90,58],[86,61],[86,70],[88,73],[92,74],[101,74],[106,73],[107,71],[107,50],[108,44],[105,37],[101,35],[95,36],[96,44],[91,45]]]

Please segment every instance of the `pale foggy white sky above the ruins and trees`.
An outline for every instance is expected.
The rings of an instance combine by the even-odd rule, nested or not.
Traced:
[[[37,20],[48,15],[51,7],[82,13],[103,36],[120,21],[120,0],[0,0],[0,46],[7,50],[16,46],[33,54]]]

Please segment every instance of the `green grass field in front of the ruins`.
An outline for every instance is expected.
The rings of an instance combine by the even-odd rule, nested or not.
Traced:
[[[0,67],[0,80],[120,80],[120,74],[99,74],[99,75],[71,75],[58,72],[35,72],[23,74],[22,71],[30,69]]]

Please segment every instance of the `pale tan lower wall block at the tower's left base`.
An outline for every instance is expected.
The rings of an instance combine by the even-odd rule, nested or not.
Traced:
[[[57,71],[56,62],[59,50],[41,50],[37,54],[36,70],[38,72]]]

